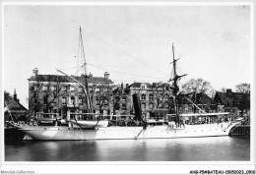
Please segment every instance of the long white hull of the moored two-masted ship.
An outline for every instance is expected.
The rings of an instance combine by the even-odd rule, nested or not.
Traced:
[[[227,126],[227,127],[226,127]],[[107,127],[79,129],[68,127],[19,126],[32,140],[134,140],[134,139],[174,139],[192,137],[228,136],[234,124],[187,125],[185,128],[172,129],[167,126]]]

